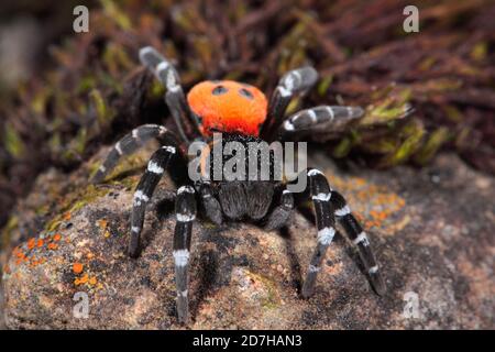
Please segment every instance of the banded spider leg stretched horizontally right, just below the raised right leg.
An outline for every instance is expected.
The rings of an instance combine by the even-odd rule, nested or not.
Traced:
[[[340,131],[351,121],[361,119],[364,110],[360,107],[332,107],[320,106],[298,111],[279,128],[279,134],[289,134],[300,131],[324,129],[327,131]]]

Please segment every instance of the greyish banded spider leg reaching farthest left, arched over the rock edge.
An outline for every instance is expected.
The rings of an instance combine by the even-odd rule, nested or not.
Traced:
[[[162,139],[168,135],[174,139],[173,135],[163,125],[158,124],[143,124],[132,130],[131,133],[125,134],[119,142],[113,145],[107,158],[98,168],[97,173],[92,176],[92,183],[100,183],[105,177],[112,172],[116,167],[119,158],[123,155],[130,155],[138,151],[147,141],[152,139]]]

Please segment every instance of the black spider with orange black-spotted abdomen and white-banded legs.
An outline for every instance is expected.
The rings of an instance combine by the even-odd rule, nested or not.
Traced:
[[[385,293],[385,284],[366,233],[352,215],[343,196],[331,189],[320,170],[304,170],[308,187],[299,195],[287,189],[287,182],[278,180],[193,182],[187,173],[188,158],[184,152],[193,141],[211,142],[213,132],[221,132],[229,141],[245,144],[246,141],[270,143],[275,140],[292,140],[301,133],[332,130],[362,118],[362,108],[319,106],[286,117],[285,112],[292,98],[306,94],[318,79],[317,72],[309,66],[285,74],[270,102],[257,88],[231,80],[199,82],[186,98],[179,76],[169,61],[151,46],[141,48],[139,56],[140,62],[166,88],[165,102],[177,127],[178,136],[158,124],[138,127],[111,148],[92,182],[102,182],[121,156],[134,153],[146,141],[160,141],[162,146],[151,156],[134,193],[129,255],[134,258],[139,256],[146,204],[162,175],[168,172],[178,186],[175,198],[173,256],[177,289],[176,311],[180,323],[186,323],[189,318],[188,266],[197,202],[202,205],[205,216],[216,224],[226,220],[242,220],[272,231],[288,224],[300,201],[312,200],[318,228],[317,243],[302,283],[301,296],[308,298],[315,292],[318,272],[337,231],[336,219],[358,246],[375,293]]]

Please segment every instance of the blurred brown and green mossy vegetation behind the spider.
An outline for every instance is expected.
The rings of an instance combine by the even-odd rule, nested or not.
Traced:
[[[77,4],[90,9],[88,33],[73,32]],[[419,33],[403,30],[408,4]],[[230,78],[270,94],[286,70],[314,65],[305,106],[366,108],[348,131],[311,136],[342,162],[421,166],[452,150],[495,174],[494,19],[487,0],[2,3],[0,227],[43,169],[69,172],[135,125],[170,123],[163,88],[138,63],[144,45],[173,59],[186,90]]]

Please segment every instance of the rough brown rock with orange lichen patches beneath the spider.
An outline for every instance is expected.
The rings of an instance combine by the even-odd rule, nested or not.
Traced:
[[[316,295],[301,299],[301,275],[316,243],[307,217],[295,215],[282,235],[245,223],[218,228],[200,219],[193,235],[188,328],[495,328],[492,178],[453,155],[441,155],[421,170],[343,173],[321,155],[312,165],[326,170],[363,221],[386,295],[373,293],[355,250],[337,235]],[[78,197],[90,199],[13,251],[2,280],[8,328],[179,328],[168,179],[148,205],[141,256],[125,255],[132,187],[141,170],[96,188],[85,185],[87,170],[65,180],[78,185]],[[62,184],[57,187],[66,189]]]

